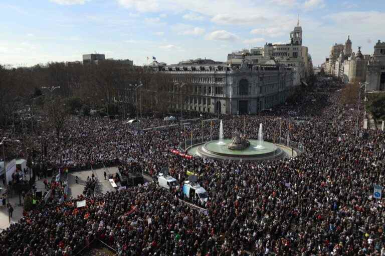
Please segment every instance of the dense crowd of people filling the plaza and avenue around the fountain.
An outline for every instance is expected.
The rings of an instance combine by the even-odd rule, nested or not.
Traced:
[[[318,86],[301,102],[258,116],[221,116],[225,137],[233,120],[251,138],[259,123],[270,140],[290,129],[289,139],[304,150],[275,161],[187,159],[170,152],[191,132],[194,138],[207,139],[210,131],[218,136],[218,121],[214,127],[204,122],[201,134],[200,122],[141,131],[121,121],[72,117],[60,140],[47,134],[52,166],[118,158],[153,177],[163,167],[179,181],[194,172],[209,193],[206,210],[154,183],[88,194],[85,207],[76,207],[83,197],[37,206],[0,234],[0,251],[76,255],[101,240],[127,256],[385,255],[385,203],[372,197],[373,185],[384,182],[385,135],[357,133],[357,105],[340,103],[340,86]]]

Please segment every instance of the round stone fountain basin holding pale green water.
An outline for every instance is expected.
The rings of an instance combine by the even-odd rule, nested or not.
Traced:
[[[256,148],[259,146],[259,140],[248,139],[250,145],[243,150],[232,150],[228,145],[232,139],[224,139],[225,144],[218,144],[219,140],[212,140],[204,144],[193,146],[187,150],[188,153],[205,156],[213,159],[232,159],[232,160],[266,160],[273,159],[273,157],[280,157],[283,150],[273,143],[264,141],[263,148]]]

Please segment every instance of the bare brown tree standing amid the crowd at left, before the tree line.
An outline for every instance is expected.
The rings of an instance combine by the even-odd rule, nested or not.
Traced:
[[[49,125],[55,129],[56,136],[58,140],[60,140],[60,132],[62,131],[68,116],[65,104],[60,97],[57,97],[47,104],[47,114]]]

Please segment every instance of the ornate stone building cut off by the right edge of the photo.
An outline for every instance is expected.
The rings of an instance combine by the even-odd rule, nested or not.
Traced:
[[[367,65],[366,91],[385,91],[385,42],[380,40],[374,45],[372,59]]]

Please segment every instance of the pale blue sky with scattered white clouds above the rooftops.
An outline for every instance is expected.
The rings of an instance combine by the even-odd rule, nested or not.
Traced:
[[[0,64],[81,60],[82,54],[155,56],[168,64],[227,54],[266,42],[288,43],[297,24],[313,64],[334,43],[373,53],[385,41],[385,1],[368,0],[2,0]]]

